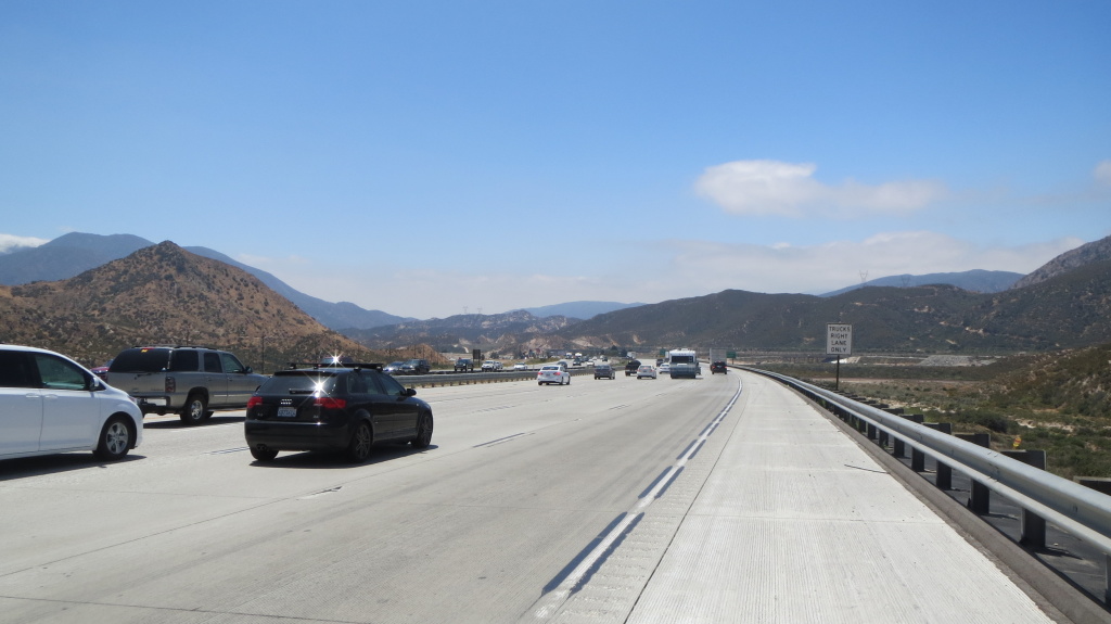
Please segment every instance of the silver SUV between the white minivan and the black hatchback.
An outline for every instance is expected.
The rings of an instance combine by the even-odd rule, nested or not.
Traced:
[[[177,412],[198,424],[212,410],[242,410],[267,380],[227,351],[204,346],[136,346],[108,366],[106,381],[139,402],[143,414]]]

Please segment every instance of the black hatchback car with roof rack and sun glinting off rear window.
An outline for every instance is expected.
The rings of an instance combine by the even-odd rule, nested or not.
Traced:
[[[300,368],[299,368],[300,366]],[[251,396],[243,433],[251,455],[338,451],[363,462],[379,442],[432,442],[432,409],[382,372],[381,364],[293,365]]]

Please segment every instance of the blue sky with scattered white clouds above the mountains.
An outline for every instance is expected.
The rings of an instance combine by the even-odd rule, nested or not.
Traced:
[[[202,245],[419,318],[1111,234],[1111,2],[0,2],[0,251]]]

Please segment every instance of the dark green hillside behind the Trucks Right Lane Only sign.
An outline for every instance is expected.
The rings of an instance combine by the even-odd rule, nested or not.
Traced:
[[[605,349],[692,346],[821,353],[825,323],[852,323],[854,352],[1023,351],[1111,342],[1111,261],[979,294],[950,285],[862,288],[837,296],[723,291],[619,310],[559,333]]]

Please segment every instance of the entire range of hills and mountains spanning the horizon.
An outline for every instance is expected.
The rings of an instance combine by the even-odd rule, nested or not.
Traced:
[[[109,239],[117,253],[143,242]],[[584,321],[519,310],[402,320],[343,332],[376,350],[413,344],[444,352],[468,348],[644,351],[684,345],[821,353],[825,323],[847,322],[857,328],[854,348],[860,352],[1084,346],[1111,342],[1109,241],[1062,254],[1023,278],[1032,281],[1029,285],[1021,286],[1020,281],[999,292],[971,292],[950,284],[909,285],[905,280],[898,288],[857,286],[829,296],[727,290],[613,310]],[[0,264],[29,251],[33,250],[0,256]],[[319,351],[329,341],[337,349],[357,349],[253,271],[203,251],[217,259],[163,242],[69,279],[0,286],[0,340],[91,359],[141,342],[228,344],[244,340],[241,336],[256,336],[260,342],[267,336],[269,349],[282,351],[283,358]],[[37,264],[43,271],[40,274],[48,274],[49,264],[44,260]],[[274,315],[276,309],[281,313]],[[290,333],[287,323],[303,328],[306,335]]]

